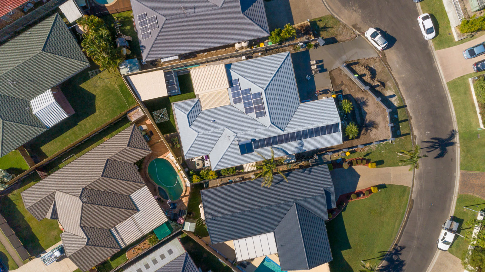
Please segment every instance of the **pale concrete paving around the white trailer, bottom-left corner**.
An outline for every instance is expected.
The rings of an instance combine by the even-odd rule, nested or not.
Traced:
[[[54,247],[60,245],[62,243],[58,242],[55,245],[49,247],[47,252],[51,251]],[[45,266],[40,257],[36,257],[35,259],[31,260],[30,262],[24,264],[23,266],[19,267],[16,270],[11,270],[15,272],[73,272],[78,267],[69,259],[68,257],[62,257],[61,259]]]

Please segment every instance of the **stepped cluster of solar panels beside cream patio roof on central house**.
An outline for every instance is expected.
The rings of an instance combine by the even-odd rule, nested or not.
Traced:
[[[256,118],[266,116],[264,111],[263,97],[261,92],[251,93],[251,89],[241,90],[241,85],[239,84],[239,79],[233,79],[230,82],[232,102],[233,104],[243,103],[244,113],[255,113]]]

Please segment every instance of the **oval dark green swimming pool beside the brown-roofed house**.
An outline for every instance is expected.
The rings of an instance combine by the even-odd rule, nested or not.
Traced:
[[[172,164],[162,158],[156,158],[148,164],[148,176],[158,186],[160,196],[177,200],[183,193],[184,185]]]

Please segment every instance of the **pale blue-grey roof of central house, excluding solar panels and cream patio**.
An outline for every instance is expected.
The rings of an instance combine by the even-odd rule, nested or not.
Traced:
[[[243,104],[200,110],[199,99],[173,104],[185,158],[209,155],[213,170],[257,162],[256,153],[241,155],[238,141],[262,139],[340,123],[333,99],[300,103],[290,53],[279,53],[226,64],[229,80],[239,79],[241,89],[261,91],[265,117],[245,114]],[[231,92],[229,91],[231,96]],[[275,156],[339,145],[342,133],[273,145]],[[270,147],[258,149],[271,156]]]

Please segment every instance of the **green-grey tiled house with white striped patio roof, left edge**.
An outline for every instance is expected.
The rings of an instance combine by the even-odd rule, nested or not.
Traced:
[[[59,14],[0,46],[0,156],[74,114],[57,87],[89,66]]]

